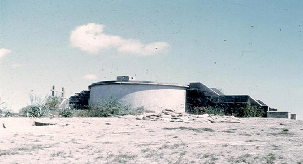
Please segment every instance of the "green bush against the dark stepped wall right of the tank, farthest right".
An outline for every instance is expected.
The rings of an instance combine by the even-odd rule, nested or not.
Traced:
[[[237,109],[234,113],[235,117],[262,117],[263,113],[257,106],[247,105],[246,107],[242,107]]]

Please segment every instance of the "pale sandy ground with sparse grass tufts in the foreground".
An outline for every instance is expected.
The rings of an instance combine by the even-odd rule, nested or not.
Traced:
[[[56,123],[33,126],[34,121]],[[303,163],[303,122],[0,118],[0,163]]]

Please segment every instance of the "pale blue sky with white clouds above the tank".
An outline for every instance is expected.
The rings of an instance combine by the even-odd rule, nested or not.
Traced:
[[[117,75],[251,95],[303,116],[301,1],[0,0],[0,97],[15,111]]]

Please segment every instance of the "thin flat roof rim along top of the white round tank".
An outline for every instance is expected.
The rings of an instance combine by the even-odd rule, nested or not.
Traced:
[[[97,85],[119,85],[119,84],[127,84],[127,85],[159,85],[159,86],[175,86],[175,87],[184,87],[188,88],[188,85],[184,84],[177,84],[177,83],[158,83],[153,81],[100,81],[96,83],[92,83],[88,88],[90,89],[91,86]]]

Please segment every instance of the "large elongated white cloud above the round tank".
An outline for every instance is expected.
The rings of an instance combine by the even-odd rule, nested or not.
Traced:
[[[170,47],[167,42],[143,44],[137,39],[123,39],[120,36],[105,34],[103,29],[103,25],[96,23],[78,26],[71,33],[71,45],[94,54],[102,50],[115,48],[119,53],[136,55],[167,53]]]

